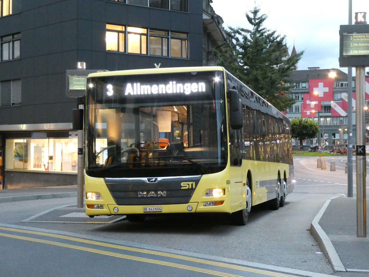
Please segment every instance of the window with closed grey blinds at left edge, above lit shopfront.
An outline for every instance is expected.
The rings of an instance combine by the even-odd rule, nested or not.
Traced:
[[[0,107],[19,106],[21,79],[0,82]]]

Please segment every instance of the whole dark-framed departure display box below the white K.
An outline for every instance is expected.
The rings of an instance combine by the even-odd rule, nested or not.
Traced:
[[[369,25],[339,26],[339,66],[369,66]]]

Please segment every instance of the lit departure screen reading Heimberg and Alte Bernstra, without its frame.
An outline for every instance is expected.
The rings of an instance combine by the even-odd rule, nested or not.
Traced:
[[[369,34],[343,34],[343,56],[369,56]]]

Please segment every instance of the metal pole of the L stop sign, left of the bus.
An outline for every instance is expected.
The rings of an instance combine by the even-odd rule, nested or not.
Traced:
[[[78,106],[83,109],[83,105]],[[78,130],[78,157],[77,157],[77,208],[83,208],[83,144],[85,140],[84,129]]]

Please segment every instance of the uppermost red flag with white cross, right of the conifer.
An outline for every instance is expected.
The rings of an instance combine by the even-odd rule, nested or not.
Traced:
[[[310,79],[309,94],[310,101],[332,101],[333,100],[332,79]]]

